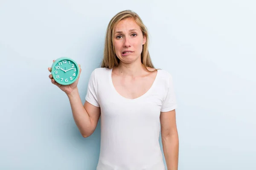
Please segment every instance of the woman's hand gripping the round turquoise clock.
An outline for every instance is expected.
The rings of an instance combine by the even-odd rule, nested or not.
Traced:
[[[55,60],[53,60],[53,62],[55,62]],[[53,79],[52,74],[49,74],[49,78],[51,79],[52,84],[58,86],[62,91],[64,91],[64,92],[68,95],[68,94],[71,94],[72,91],[77,88],[77,84],[78,84],[79,77],[80,77],[80,74],[81,74],[81,67],[80,67],[80,65],[79,65],[79,70],[80,70],[80,71],[79,71],[78,79],[76,79],[76,81],[73,82],[73,83],[70,84],[70,85],[61,85],[61,84],[59,84],[58,82],[56,82],[56,81]],[[49,68],[48,68],[48,71],[51,72],[51,71],[52,71],[52,68],[49,67]]]

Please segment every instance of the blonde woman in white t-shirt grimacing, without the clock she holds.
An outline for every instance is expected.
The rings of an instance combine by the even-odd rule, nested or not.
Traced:
[[[81,68],[79,65],[80,73]],[[51,71],[51,68],[48,68]],[[79,75],[80,76],[80,75]],[[60,85],[82,136],[90,136],[101,116],[97,170],[177,170],[177,107],[172,76],[155,69],[148,53],[148,32],[140,17],[126,10],[110,21],[101,68],[90,76],[86,101],[77,83]]]

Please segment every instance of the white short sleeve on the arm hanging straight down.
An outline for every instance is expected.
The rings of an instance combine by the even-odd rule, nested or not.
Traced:
[[[168,85],[166,97],[162,104],[161,112],[172,111],[177,108],[175,90],[174,90],[173,79],[171,74],[169,74],[168,83],[169,85]]]

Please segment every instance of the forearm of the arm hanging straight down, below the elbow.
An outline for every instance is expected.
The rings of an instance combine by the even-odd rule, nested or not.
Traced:
[[[176,133],[169,136],[162,136],[162,144],[167,170],[177,170],[179,155],[178,134]]]

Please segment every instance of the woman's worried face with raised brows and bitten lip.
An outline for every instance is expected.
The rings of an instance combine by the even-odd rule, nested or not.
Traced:
[[[123,63],[141,62],[140,55],[146,39],[133,18],[119,21],[114,30],[113,44],[116,56]]]

